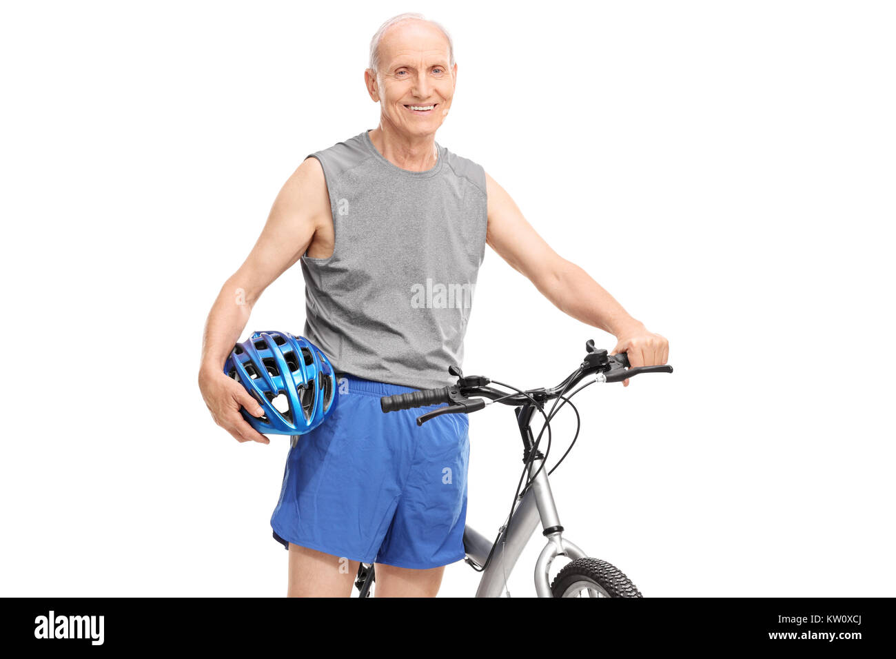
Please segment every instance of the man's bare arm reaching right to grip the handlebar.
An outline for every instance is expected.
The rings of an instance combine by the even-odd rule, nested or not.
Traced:
[[[558,255],[522,216],[511,196],[488,174],[486,185],[489,247],[535,284],[556,308],[616,336],[613,353],[626,352],[632,366],[667,362],[665,337],[648,331],[581,267]]]

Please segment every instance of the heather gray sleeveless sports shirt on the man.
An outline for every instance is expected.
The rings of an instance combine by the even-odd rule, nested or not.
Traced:
[[[307,156],[320,160],[335,245],[302,256],[306,338],[357,377],[453,384],[485,256],[485,171],[435,144],[433,169],[386,160],[367,131]]]

